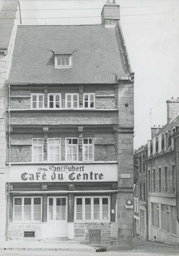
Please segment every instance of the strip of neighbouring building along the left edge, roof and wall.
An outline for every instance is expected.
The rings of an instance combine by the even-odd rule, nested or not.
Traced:
[[[6,79],[11,65],[13,44],[16,35],[14,20],[18,1],[0,3],[0,241],[5,240],[6,200],[5,164],[6,164]]]

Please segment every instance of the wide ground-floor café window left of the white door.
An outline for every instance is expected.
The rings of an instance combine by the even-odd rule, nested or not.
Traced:
[[[18,196],[14,197],[13,221],[41,221],[42,197]]]

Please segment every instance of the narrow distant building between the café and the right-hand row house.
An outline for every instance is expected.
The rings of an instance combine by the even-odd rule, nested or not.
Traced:
[[[139,156],[139,176],[133,192],[133,236],[139,236],[147,240],[147,175],[144,163],[147,146],[136,150],[136,154]]]

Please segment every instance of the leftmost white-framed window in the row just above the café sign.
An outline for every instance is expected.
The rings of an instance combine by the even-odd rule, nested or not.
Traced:
[[[32,162],[43,161],[43,138],[32,138]]]

